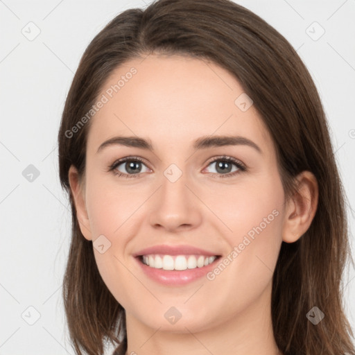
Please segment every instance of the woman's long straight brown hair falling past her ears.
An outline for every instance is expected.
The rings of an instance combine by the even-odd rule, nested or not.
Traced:
[[[345,193],[320,97],[291,44],[229,0],[159,0],[145,10],[125,10],[96,35],[80,60],[58,134],[60,181],[72,210],[62,296],[76,354],[103,354],[108,341],[124,354],[127,337],[125,311],[101,279],[69,187],[71,164],[80,177],[85,173],[90,121],[75,134],[72,128],[116,67],[150,53],[212,60],[239,80],[274,141],[286,199],[297,191],[298,173],[315,175],[319,200],[311,226],[295,243],[283,242],[279,253],[272,279],[272,327],[284,355],[355,354],[342,304],[343,271],[352,260]],[[317,325],[306,318],[313,306],[325,314]]]

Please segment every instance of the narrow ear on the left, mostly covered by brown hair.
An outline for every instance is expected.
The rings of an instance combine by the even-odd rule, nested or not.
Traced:
[[[89,216],[87,215],[85,203],[85,184],[79,180],[78,170],[75,166],[70,166],[68,175],[80,230],[83,236],[85,236],[85,239],[92,241],[92,232],[90,230]]]

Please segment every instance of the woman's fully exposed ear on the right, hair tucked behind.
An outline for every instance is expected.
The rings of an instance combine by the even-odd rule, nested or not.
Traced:
[[[318,206],[318,182],[313,173],[297,175],[298,191],[288,201],[282,240],[294,243],[309,229]]]

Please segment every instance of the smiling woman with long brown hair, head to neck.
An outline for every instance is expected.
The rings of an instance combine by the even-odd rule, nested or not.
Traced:
[[[126,10],[85,51],[58,141],[76,354],[354,354],[327,120],[263,19],[227,0]]]

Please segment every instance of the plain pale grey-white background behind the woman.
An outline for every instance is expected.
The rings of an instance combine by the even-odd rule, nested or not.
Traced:
[[[282,33],[315,80],[349,198],[354,251],[355,0],[236,2]],[[58,179],[60,115],[94,35],[119,12],[148,3],[0,0],[0,355],[73,354],[61,299],[71,215]],[[344,286],[355,329],[352,266]]]

